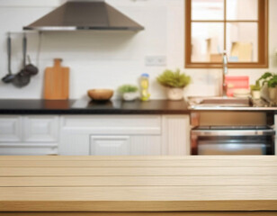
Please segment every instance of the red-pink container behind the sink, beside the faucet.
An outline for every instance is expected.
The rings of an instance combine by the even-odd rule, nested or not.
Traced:
[[[234,90],[237,88],[249,89],[249,77],[248,76],[225,76],[225,82],[227,84],[227,95],[233,96]]]

